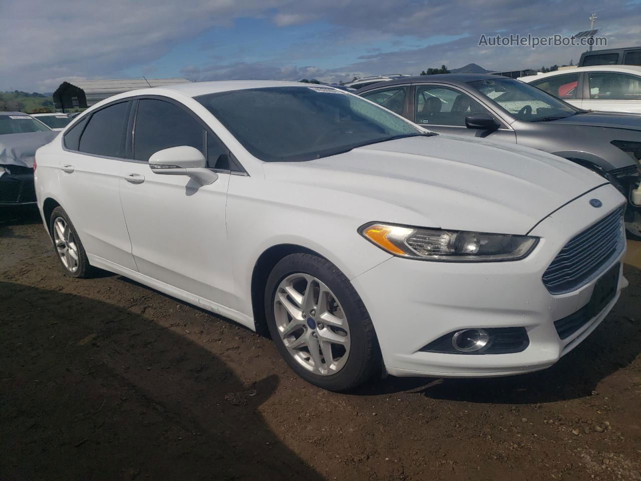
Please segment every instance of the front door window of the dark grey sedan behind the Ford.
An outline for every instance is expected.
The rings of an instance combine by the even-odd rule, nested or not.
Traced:
[[[492,115],[469,95],[438,85],[418,86],[414,104],[417,124],[465,127],[468,115]]]

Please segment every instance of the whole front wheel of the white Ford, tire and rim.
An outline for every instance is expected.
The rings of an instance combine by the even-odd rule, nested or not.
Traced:
[[[380,366],[363,301],[324,258],[297,253],[278,262],[267,280],[265,312],[279,353],[311,384],[346,391],[369,380]]]

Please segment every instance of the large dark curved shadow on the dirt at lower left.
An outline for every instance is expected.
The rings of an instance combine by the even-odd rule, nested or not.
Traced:
[[[0,282],[0,479],[314,481],[210,351],[101,301]]]

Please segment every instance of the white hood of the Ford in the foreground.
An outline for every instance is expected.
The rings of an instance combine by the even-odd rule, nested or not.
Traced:
[[[263,164],[306,206],[363,221],[524,234],[601,176],[534,149],[450,135],[391,140],[310,162]],[[352,211],[352,212],[350,212]]]

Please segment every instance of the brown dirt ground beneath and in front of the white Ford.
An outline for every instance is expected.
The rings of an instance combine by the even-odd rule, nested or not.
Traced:
[[[296,378],[272,343],[122,278],[63,276],[0,221],[0,480],[641,480],[641,267],[556,366]]]

